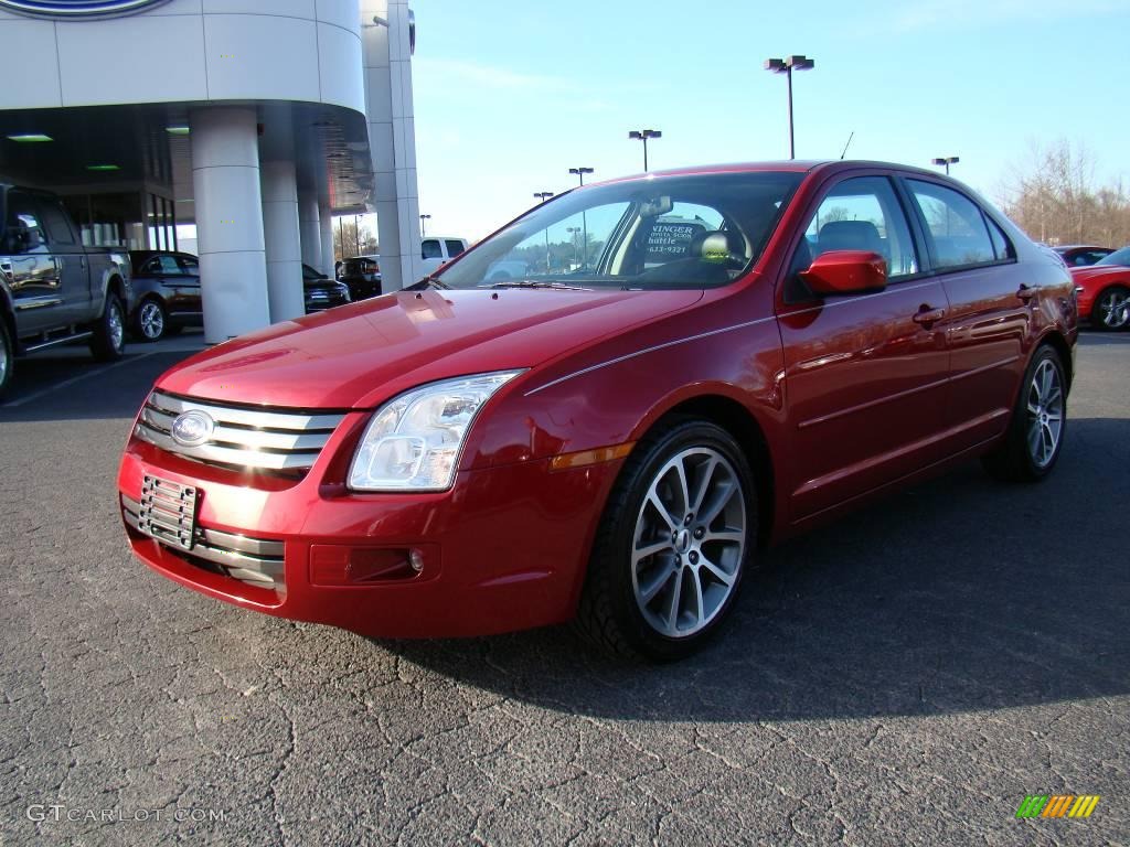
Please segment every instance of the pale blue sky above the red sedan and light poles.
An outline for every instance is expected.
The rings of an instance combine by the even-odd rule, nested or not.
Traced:
[[[930,166],[998,201],[1033,148],[1086,149],[1130,187],[1130,0],[415,0],[420,211],[483,237],[537,191],[643,169],[789,155]]]

